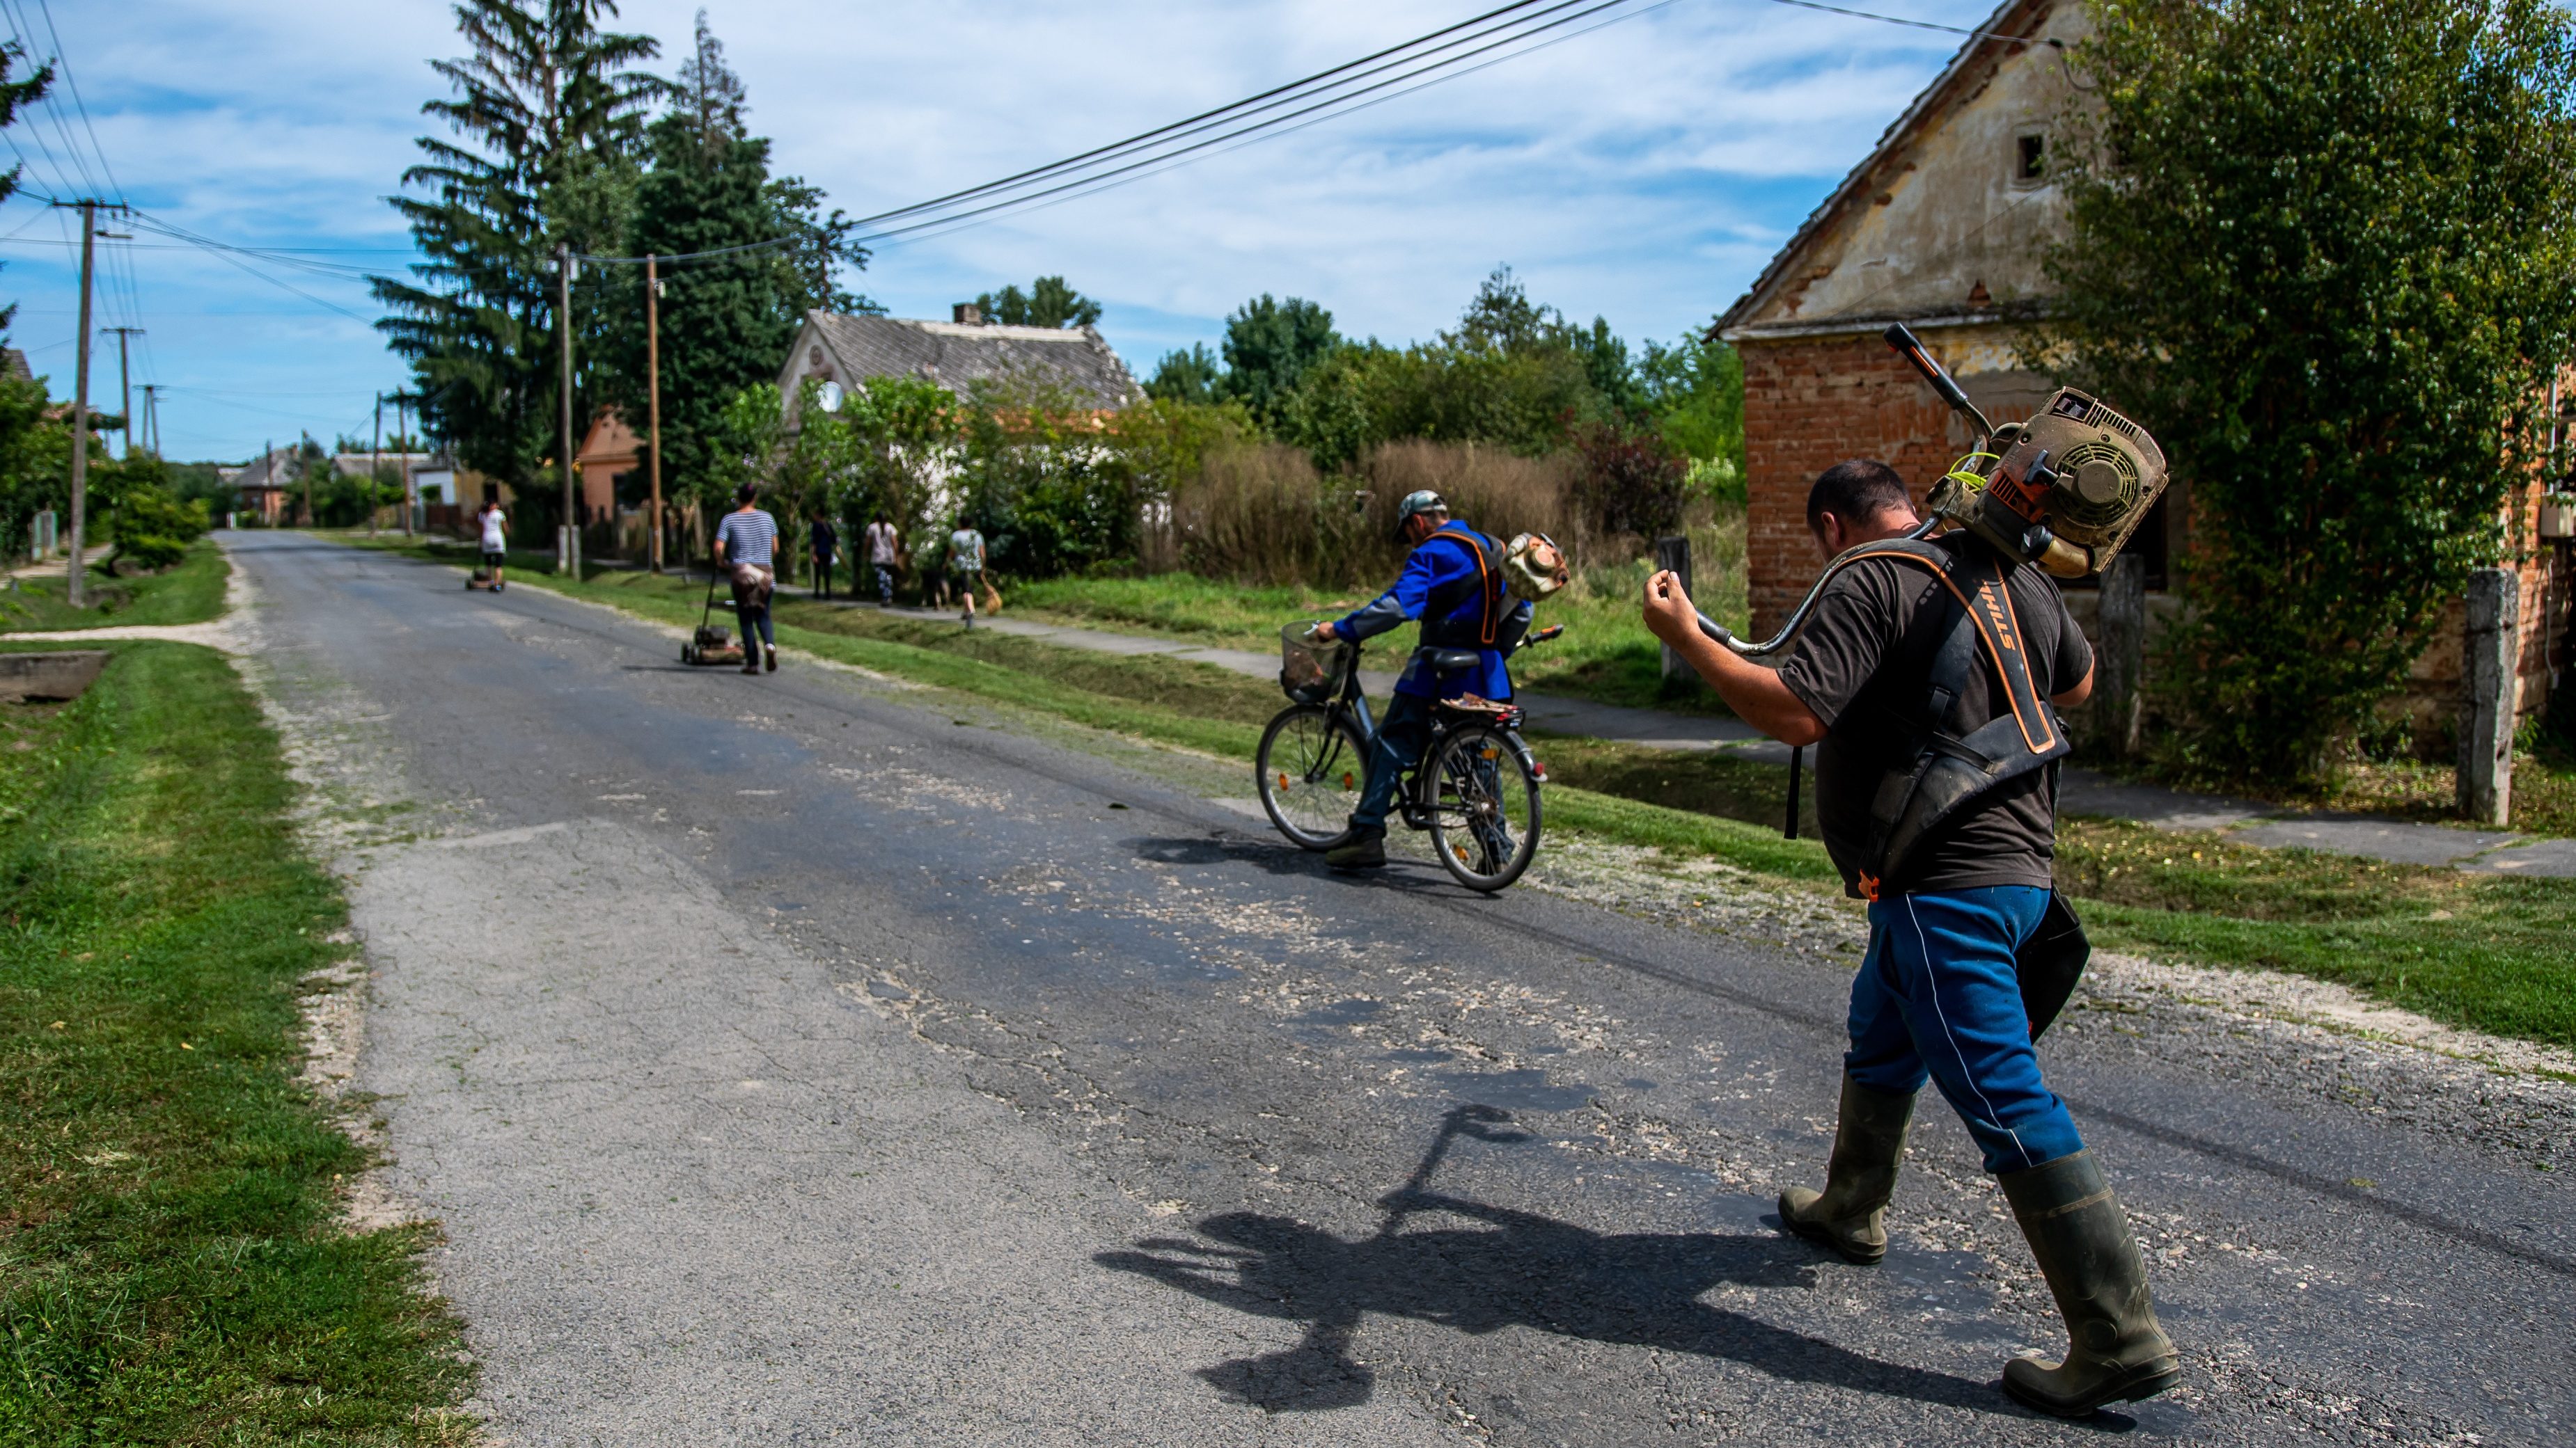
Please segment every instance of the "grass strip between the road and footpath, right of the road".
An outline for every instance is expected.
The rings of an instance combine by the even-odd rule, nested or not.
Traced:
[[[698,621],[701,593],[672,577],[531,577],[647,618]],[[1280,709],[1275,685],[1213,665],[1092,654],[868,608],[783,600],[778,636],[999,706],[1239,760]],[[1811,794],[1806,837],[1780,837],[1788,770],[1777,765],[1602,739],[1533,745],[1556,778],[1548,817],[1558,827],[1798,886],[1837,884],[1814,840]],[[2105,948],[2298,971],[2434,1020],[2576,1046],[2576,881],[2486,879],[2066,819],[2058,884],[2081,902]]]

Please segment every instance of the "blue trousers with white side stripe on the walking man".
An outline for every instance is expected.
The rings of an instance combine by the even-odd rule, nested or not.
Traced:
[[[2022,1172],[2084,1149],[2066,1103],[2040,1082],[2012,969],[2048,891],[1986,886],[1870,902],[1870,953],[1852,979],[1852,1049],[1865,1087],[1922,1090],[1968,1123],[1989,1172]]]

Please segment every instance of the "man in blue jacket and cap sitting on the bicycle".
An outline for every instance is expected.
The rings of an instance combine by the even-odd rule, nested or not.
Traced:
[[[1324,855],[1337,871],[1386,863],[1386,809],[1396,801],[1404,773],[1422,765],[1422,750],[1432,742],[1432,706],[1468,693],[1512,698],[1512,672],[1502,660],[1530,626],[1528,600],[1504,598],[1502,544],[1453,523],[1437,492],[1412,492],[1396,505],[1396,538],[1414,546],[1396,585],[1370,605],[1319,624],[1316,636],[1360,642],[1419,618],[1425,649],[1473,649],[1476,665],[1443,672],[1414,654],[1396,678],[1396,698],[1368,750],[1368,788],[1350,814],[1350,840]]]

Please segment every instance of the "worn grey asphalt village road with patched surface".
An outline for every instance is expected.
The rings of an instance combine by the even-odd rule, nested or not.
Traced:
[[[229,541],[374,966],[358,1085],[507,1443],[2563,1443],[2566,1167],[2053,1036],[2190,1384],[2058,1327],[1927,1098],[1883,1268],[1821,1172],[1847,976],[1430,866],[1234,770],[544,590]],[[404,840],[402,835],[417,835]],[[2156,1046],[2156,1049],[2148,1049]]]

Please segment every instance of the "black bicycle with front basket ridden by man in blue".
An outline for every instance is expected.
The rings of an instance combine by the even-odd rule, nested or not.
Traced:
[[[1510,652],[1564,634],[1540,629]],[[1350,812],[1368,783],[1376,716],[1360,691],[1360,644],[1316,644],[1298,626],[1280,631],[1280,688],[1293,701],[1262,729],[1255,757],[1262,809],[1303,850],[1329,850],[1352,835]],[[1476,665],[1476,649],[1414,649],[1427,667]],[[1427,830],[1448,873],[1484,894],[1510,886],[1538,853],[1538,786],[1548,773],[1520,737],[1522,711],[1492,701],[1440,701],[1422,763],[1396,786],[1399,817]]]

